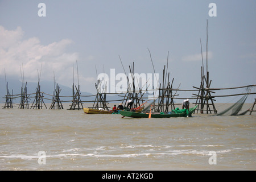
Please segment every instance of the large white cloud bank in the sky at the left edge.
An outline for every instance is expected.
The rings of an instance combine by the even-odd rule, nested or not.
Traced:
[[[20,67],[23,65],[25,80],[38,81],[38,71],[42,65],[41,78],[44,80],[52,80],[53,71],[57,82],[73,80],[72,65],[76,64],[79,55],[66,50],[73,44],[72,40],[63,39],[42,45],[38,38],[24,39],[23,36],[21,27],[6,30],[0,26],[0,75],[5,74],[5,68],[7,75],[20,77]]]

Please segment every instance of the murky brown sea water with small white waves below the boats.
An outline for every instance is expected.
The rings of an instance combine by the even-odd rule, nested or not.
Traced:
[[[255,171],[255,131],[255,112],[122,118],[68,110],[68,105],[0,109],[0,170]]]

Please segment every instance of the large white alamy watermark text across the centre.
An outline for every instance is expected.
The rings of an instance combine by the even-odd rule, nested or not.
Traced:
[[[100,73],[97,76],[100,81],[98,92],[100,93],[147,93],[148,99],[158,97],[159,73],[115,73],[115,69],[110,69],[110,76]]]

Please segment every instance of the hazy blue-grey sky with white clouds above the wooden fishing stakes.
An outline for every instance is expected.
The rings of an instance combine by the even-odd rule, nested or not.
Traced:
[[[210,3],[217,16],[209,16]],[[81,90],[95,93],[99,73],[129,72],[133,62],[135,73],[154,73],[152,58],[162,78],[168,55],[173,88],[193,89],[201,82],[200,40],[206,67],[208,21],[210,87],[256,84],[255,9],[255,0],[0,0],[0,76],[21,80],[22,68],[37,82],[42,66],[40,80],[54,75],[71,87],[77,63]]]

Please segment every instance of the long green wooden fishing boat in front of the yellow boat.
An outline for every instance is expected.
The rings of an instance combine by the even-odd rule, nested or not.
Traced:
[[[176,108],[175,110],[172,110],[171,113],[151,113],[151,118],[172,118],[172,117],[191,117],[193,111],[196,110],[196,107],[192,107],[187,111],[186,109],[179,110],[179,108]],[[131,117],[131,118],[148,118],[150,113],[136,113],[133,111],[120,111],[120,114],[123,115],[123,117]]]

